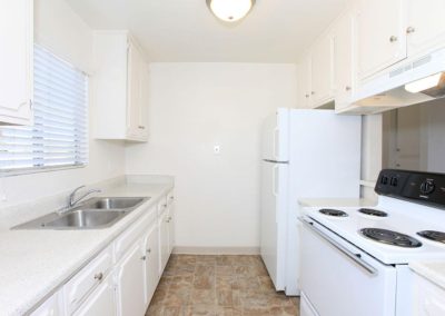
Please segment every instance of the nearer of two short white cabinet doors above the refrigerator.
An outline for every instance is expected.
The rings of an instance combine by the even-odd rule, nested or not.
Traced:
[[[310,103],[317,107],[333,97],[332,38],[323,37],[313,48],[310,58]]]

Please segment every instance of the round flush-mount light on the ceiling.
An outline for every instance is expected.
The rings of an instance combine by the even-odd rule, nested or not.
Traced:
[[[206,0],[210,11],[225,22],[235,22],[250,12],[255,0]]]

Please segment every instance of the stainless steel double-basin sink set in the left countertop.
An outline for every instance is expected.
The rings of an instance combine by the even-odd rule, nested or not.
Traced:
[[[122,219],[149,197],[96,197],[63,213],[51,213],[12,229],[99,229]]]

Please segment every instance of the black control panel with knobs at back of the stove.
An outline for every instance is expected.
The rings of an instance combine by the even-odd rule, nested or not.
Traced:
[[[396,169],[380,171],[378,195],[445,207],[445,175]]]

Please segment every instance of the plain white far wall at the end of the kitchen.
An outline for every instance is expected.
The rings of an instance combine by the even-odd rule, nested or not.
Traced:
[[[127,171],[176,177],[177,246],[258,247],[260,125],[295,106],[295,77],[291,65],[151,65],[149,142],[128,147]]]

